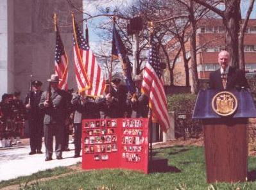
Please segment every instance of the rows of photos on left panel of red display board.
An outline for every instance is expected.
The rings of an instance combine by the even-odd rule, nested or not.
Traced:
[[[90,120],[84,123],[83,153],[95,161],[107,161],[117,152],[117,120]]]

